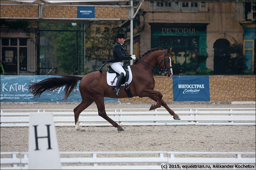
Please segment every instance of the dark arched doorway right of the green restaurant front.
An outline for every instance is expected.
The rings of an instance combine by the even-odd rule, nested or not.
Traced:
[[[217,39],[214,48],[214,74],[226,74],[228,60],[230,59],[230,43],[226,39]]]

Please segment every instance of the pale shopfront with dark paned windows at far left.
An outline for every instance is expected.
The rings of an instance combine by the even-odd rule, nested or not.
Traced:
[[[1,28],[1,61],[5,75],[36,75],[37,24],[30,25],[29,31],[23,29]]]

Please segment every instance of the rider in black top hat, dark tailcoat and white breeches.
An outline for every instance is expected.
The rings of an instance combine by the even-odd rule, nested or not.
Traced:
[[[119,92],[120,85],[123,80],[123,78],[126,76],[126,72],[123,70],[123,60],[131,60],[136,59],[135,55],[127,55],[125,54],[123,44],[126,39],[124,33],[117,33],[117,36],[115,37],[117,42],[114,44],[113,47],[113,59],[116,61],[115,63],[111,63],[112,69],[119,74],[119,77],[117,79],[116,87],[114,87],[114,92],[116,95],[121,94]]]

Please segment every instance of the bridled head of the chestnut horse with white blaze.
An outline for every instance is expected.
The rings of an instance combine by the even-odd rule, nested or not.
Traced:
[[[172,73],[172,62],[171,62],[171,51],[172,48],[168,48],[164,51],[164,54],[162,54],[158,58],[159,67],[163,70],[164,76],[168,75],[170,77]]]

